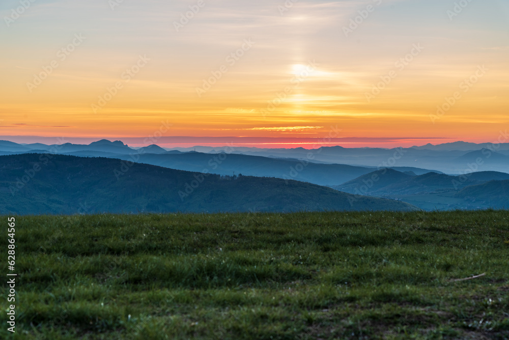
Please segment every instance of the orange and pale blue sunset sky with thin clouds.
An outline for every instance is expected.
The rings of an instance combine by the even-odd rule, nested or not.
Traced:
[[[509,125],[505,0],[3,0],[0,137],[397,147]]]

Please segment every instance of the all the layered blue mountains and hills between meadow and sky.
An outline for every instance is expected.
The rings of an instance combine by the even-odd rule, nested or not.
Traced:
[[[362,200],[366,200],[365,196],[371,197],[370,200],[375,198],[389,199],[391,204],[406,202],[423,210],[483,209],[506,207],[508,205],[504,191],[504,181],[509,180],[509,174],[507,173],[509,171],[509,156],[504,154],[504,152],[507,152],[507,148],[509,148],[509,144],[479,145],[457,142],[406,149],[348,149],[339,146],[323,147],[315,150],[303,148],[228,147],[223,149],[196,147],[196,150],[200,151],[196,152],[194,148],[192,150],[168,150],[158,145],[131,148],[120,140],[109,141],[105,139],[88,145],[70,143],[62,145],[16,144],[11,141],[0,141],[0,155],[6,156],[6,158],[2,157],[2,163],[0,163],[2,167],[0,169],[0,182],[4,185],[1,190],[11,192],[12,190],[9,188],[13,187],[13,178],[12,176],[9,177],[9,173],[5,172],[4,169],[10,169],[14,173],[18,170],[31,173],[33,168],[30,164],[38,163],[32,161],[27,166],[25,164],[18,168],[10,168],[11,163],[16,164],[17,157],[21,157],[19,159],[24,159],[24,156],[40,157],[45,160],[60,160],[58,157],[71,157],[69,159],[72,159],[72,161],[66,160],[65,162],[55,163],[64,167],[55,171],[59,176],[58,178],[48,178],[46,185],[40,183],[40,186],[34,189],[33,195],[39,197],[38,203],[30,203],[30,200],[26,199],[23,201],[24,203],[18,202],[19,205],[16,208],[18,210],[13,208],[15,206],[10,205],[8,211],[19,211],[19,213],[26,211],[26,209],[34,213],[47,209],[56,213],[72,213],[79,209],[75,205],[65,203],[69,198],[65,196],[64,192],[66,190],[64,188],[60,189],[62,192],[55,196],[54,200],[56,201],[48,201],[49,203],[43,204],[45,190],[59,187],[59,185],[62,185],[59,181],[66,177],[73,178],[76,183],[83,181],[82,185],[90,186],[95,190],[94,192],[97,193],[98,197],[102,197],[97,200],[100,204],[92,206],[90,210],[96,212],[103,211],[101,209],[112,212],[124,211],[122,209],[125,209],[125,211],[197,212],[245,211],[246,209],[253,211],[257,209],[260,211],[347,210],[350,208],[354,210],[378,210],[382,206],[389,207],[386,203],[381,203],[386,201],[370,201],[370,204],[364,204]],[[7,156],[10,156],[10,158]],[[84,161],[84,159],[88,160]],[[106,159],[108,160],[106,161]],[[412,159],[414,160],[412,161]],[[73,162],[78,165],[73,165]],[[108,162],[116,162],[117,168],[110,169],[109,167],[114,163]],[[101,175],[101,171],[94,172],[90,169],[90,172],[83,172],[79,170],[85,163],[101,169],[108,169],[108,172],[114,173],[114,179],[109,178],[111,177],[109,175]],[[364,165],[358,165],[359,163]],[[430,167],[416,167],[409,164],[427,164]],[[150,169],[149,173],[152,179],[150,176],[143,175],[143,171],[138,171],[140,169],[138,166],[145,166],[145,168]],[[48,169],[48,167],[44,168]],[[155,168],[159,170],[155,170]],[[443,172],[437,170],[437,168],[442,169]],[[459,168],[462,168],[462,171],[458,171]],[[131,169],[137,169],[137,171],[131,171]],[[169,198],[170,196],[166,196],[157,185],[152,184],[152,182],[160,182],[169,185],[167,184],[169,183],[167,182],[168,179],[162,181],[157,175],[162,171],[161,169],[173,171],[173,173],[167,173],[166,175],[176,179],[171,182],[175,187],[165,189],[165,192],[173,192],[173,198]],[[502,171],[496,169],[502,169]],[[74,176],[73,171],[77,171],[79,176]],[[200,192],[204,193],[205,196],[193,194],[190,195],[192,196],[190,201],[175,201],[176,198],[180,198],[179,192],[186,193],[186,188],[187,191],[196,193],[194,188],[189,187],[189,183],[194,180],[182,175],[184,173],[188,174],[186,175],[188,177],[204,176],[208,179],[204,182],[208,184],[200,185],[202,188]],[[127,174],[127,176],[124,176],[124,174]],[[133,174],[136,174],[137,177],[131,178]],[[19,172],[17,175],[18,179],[29,176]],[[85,178],[80,179],[80,177]],[[96,182],[85,181],[85,179],[93,178],[96,178],[96,182],[102,183],[102,185],[95,187],[94,183]],[[134,197],[132,193],[126,191],[127,189],[119,186],[119,183],[126,181],[125,178],[132,181],[128,184],[130,187],[138,187],[140,183],[143,183],[143,187],[151,190],[143,191],[143,195],[140,194]],[[225,180],[233,178],[235,178],[235,181]],[[209,179],[217,179],[217,181],[210,182]],[[103,180],[104,183],[101,182]],[[30,182],[38,183],[37,180],[31,180]],[[18,180],[14,180],[14,183],[23,188],[30,187],[29,183],[25,185],[22,181],[20,183]],[[241,186],[241,184],[245,184],[250,187],[251,184],[248,183],[256,183],[252,185],[261,186],[263,189],[261,192],[253,192],[254,189]],[[284,183],[284,186],[281,183]],[[214,185],[220,186],[221,189],[214,188]],[[271,186],[272,189],[270,189]],[[324,188],[325,186],[329,188]],[[183,187],[184,189],[182,189]],[[228,190],[225,190],[224,188],[227,187]],[[177,194],[174,192],[176,188],[178,188]],[[289,191],[289,188],[293,189]],[[95,194],[90,192],[89,189],[79,189],[76,186],[74,190],[83,192],[84,196],[88,197],[89,202],[96,202],[94,200]],[[229,194],[230,191],[236,192],[236,190],[239,190],[239,193],[240,191],[249,192],[249,197],[252,197],[252,200],[248,196]],[[30,192],[30,190],[23,191],[25,193]],[[88,194],[86,194],[87,192]],[[121,193],[121,195],[115,197],[115,199],[110,197],[110,200],[102,202],[101,200],[104,197],[101,195],[105,192],[110,192],[111,195]],[[217,194],[214,195],[212,192]],[[309,195],[299,196],[297,192],[307,192]],[[210,196],[206,196],[205,193],[210,193]],[[270,193],[270,195],[263,196],[262,193]],[[217,201],[221,194],[229,195],[230,198],[235,198],[235,200],[228,201],[223,197],[222,201]],[[293,197],[290,200],[291,202],[281,196],[284,194]],[[339,200],[337,194],[343,195],[342,197],[346,201]],[[151,195],[155,195],[157,198]],[[22,197],[22,195],[18,196],[18,199],[22,200]],[[126,197],[130,197],[130,199],[128,200]],[[146,198],[143,199],[143,197]],[[148,197],[152,198],[149,199]],[[210,197],[216,197],[213,201],[217,201],[217,205],[210,201]],[[279,203],[277,203],[275,197],[277,197]],[[328,198],[325,199],[325,197]],[[357,202],[354,207],[350,205],[352,197],[354,199],[362,197],[362,200]],[[207,200],[210,202],[204,203]],[[56,203],[57,201],[60,203]],[[283,204],[282,202],[286,203]],[[345,202],[349,202],[349,204],[345,205]],[[23,210],[23,206],[28,208]],[[7,201],[4,207],[7,207]],[[404,208],[402,206],[391,207],[396,210]],[[408,208],[409,206],[405,207]]]

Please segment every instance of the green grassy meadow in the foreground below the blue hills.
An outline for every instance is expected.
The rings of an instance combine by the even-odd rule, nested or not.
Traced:
[[[20,216],[16,245],[0,338],[509,338],[507,211]]]

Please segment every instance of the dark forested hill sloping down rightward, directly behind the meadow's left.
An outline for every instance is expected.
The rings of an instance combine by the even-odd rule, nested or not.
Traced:
[[[0,164],[0,210],[4,213],[415,209],[403,202],[298,181],[202,177],[109,158],[23,154],[1,156]]]

